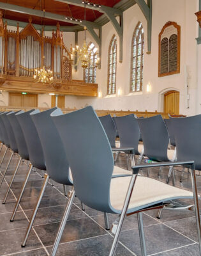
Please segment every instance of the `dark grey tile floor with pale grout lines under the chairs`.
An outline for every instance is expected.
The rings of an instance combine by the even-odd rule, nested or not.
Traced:
[[[10,152],[6,155],[8,160]],[[0,159],[2,152],[0,154]],[[2,202],[17,157],[11,162],[6,175],[6,181],[0,188],[0,201]],[[1,167],[4,171],[6,160]],[[126,168],[126,159],[119,156],[117,165]],[[33,230],[25,248],[20,246],[29,218],[40,188],[43,183],[41,172],[37,170],[31,174],[23,195],[22,202],[17,212],[15,221],[10,222],[11,212],[19,196],[20,187],[27,172],[27,163],[20,166],[19,173],[13,183],[11,193],[5,205],[0,202],[0,255],[43,256],[49,255],[54,238],[56,237],[59,222],[63,216],[67,198],[63,195],[63,186],[48,184],[45,196],[41,201],[40,209],[34,221]],[[158,169],[150,171],[151,177],[165,182],[167,169],[163,169],[158,177]],[[144,172],[144,175],[146,173]],[[175,172],[176,185],[191,189],[190,175],[184,175],[183,182],[179,182],[180,173]],[[1,175],[0,175],[1,179]],[[201,177],[197,177],[198,192],[201,193]],[[191,201],[177,202],[188,204]],[[201,204],[200,204],[201,207]],[[147,255],[157,256],[198,256],[197,230],[193,212],[188,211],[163,211],[161,219],[156,219],[156,210],[144,212],[144,231],[147,244]],[[110,224],[115,220],[114,214],[109,214]],[[70,217],[64,228],[63,237],[57,255],[68,256],[107,256],[112,244],[112,234],[104,228],[102,212],[94,211],[86,207],[86,211],[80,208],[78,198],[75,198]],[[133,215],[124,221],[123,231],[119,239],[115,255],[140,256],[140,241],[138,237],[137,216]]]

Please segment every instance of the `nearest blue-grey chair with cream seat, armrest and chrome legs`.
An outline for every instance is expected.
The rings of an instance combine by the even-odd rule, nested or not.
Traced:
[[[57,113],[54,112],[51,115],[64,143],[71,166],[74,189],[71,191],[50,255],[56,255],[76,193],[84,204],[93,209],[121,214],[110,256],[114,255],[126,214],[137,213],[142,254],[146,256],[142,211],[154,207],[164,207],[168,200],[174,198],[193,198],[193,193],[158,180],[138,176],[138,171],[140,168],[169,164],[190,164],[193,168],[193,161],[138,164],[132,167],[133,175],[131,177],[112,178],[114,170],[112,148],[93,108],[89,106],[66,115],[57,116]],[[196,191],[194,194],[195,202],[197,202]],[[198,230],[200,230],[199,222]]]

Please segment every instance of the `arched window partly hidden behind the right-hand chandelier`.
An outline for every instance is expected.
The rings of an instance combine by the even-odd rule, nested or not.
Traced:
[[[84,81],[85,83],[96,83],[95,61],[97,59],[97,48],[93,43],[89,43],[88,49],[93,52],[93,55],[91,55],[89,67],[84,68]]]

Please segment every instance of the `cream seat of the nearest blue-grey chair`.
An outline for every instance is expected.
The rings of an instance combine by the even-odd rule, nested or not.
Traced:
[[[123,209],[131,177],[117,177],[111,180],[110,203],[118,212]],[[159,180],[138,176],[128,207],[128,212],[138,211],[154,204],[176,198],[193,198],[193,193],[175,188]]]

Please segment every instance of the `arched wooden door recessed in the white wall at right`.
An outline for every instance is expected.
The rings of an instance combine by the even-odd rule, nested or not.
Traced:
[[[179,115],[179,92],[170,91],[164,95],[164,112]]]

